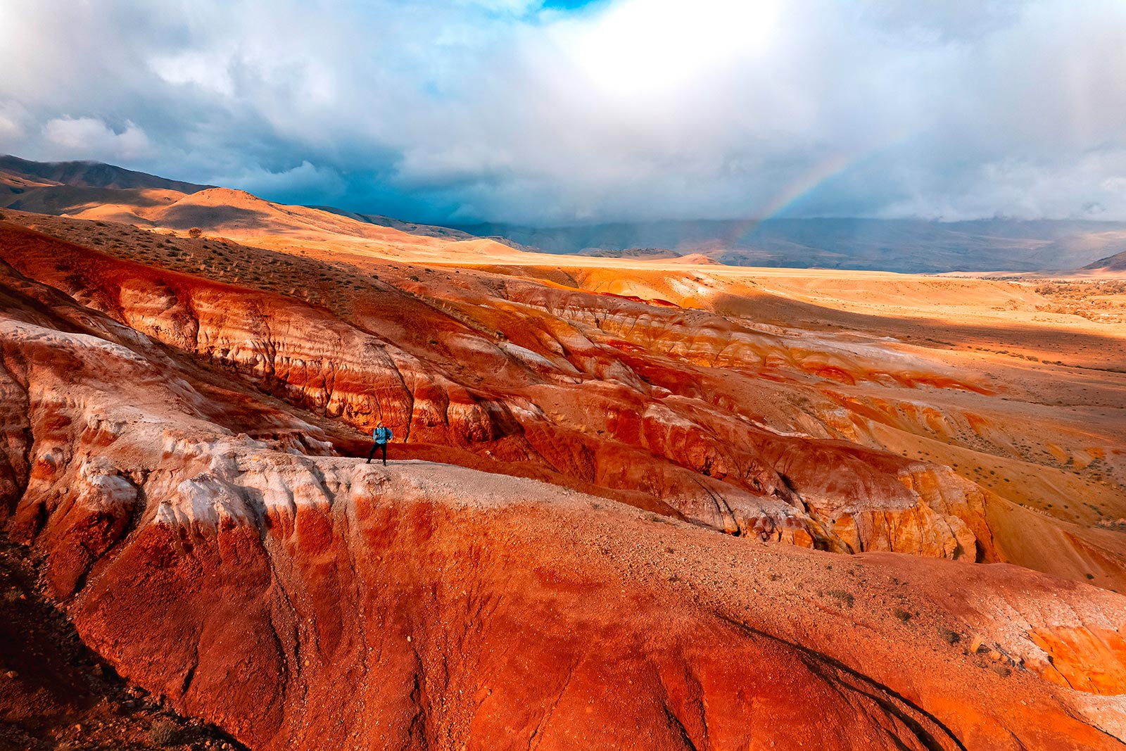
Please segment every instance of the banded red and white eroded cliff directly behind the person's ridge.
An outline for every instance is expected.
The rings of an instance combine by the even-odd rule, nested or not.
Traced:
[[[823,429],[825,437],[779,431],[738,409],[753,379],[736,370],[736,384],[717,382],[707,372],[721,359],[772,363],[794,377],[823,369],[808,364],[807,345],[778,334],[527,281],[506,283],[503,298],[386,290],[390,299],[346,320],[34,233],[12,232],[6,254],[19,272],[132,330],[363,430],[383,419],[411,442],[484,455],[500,471],[534,464],[558,484],[730,534],[998,560],[971,483],[826,440]],[[406,321],[440,347],[396,345],[391,337],[406,339]],[[849,367],[875,368],[875,354],[866,357]],[[904,366],[894,377],[922,376]]]

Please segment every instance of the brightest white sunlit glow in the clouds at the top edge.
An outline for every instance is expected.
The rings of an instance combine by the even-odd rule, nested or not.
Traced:
[[[574,29],[568,47],[607,93],[660,95],[761,53],[778,11],[778,0],[626,0]]]

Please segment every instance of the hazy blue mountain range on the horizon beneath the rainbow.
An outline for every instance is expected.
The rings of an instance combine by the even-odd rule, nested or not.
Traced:
[[[906,272],[1061,271],[1126,250],[1126,222],[1073,220],[778,218],[455,229],[549,253],[605,256],[661,248],[733,266]]]

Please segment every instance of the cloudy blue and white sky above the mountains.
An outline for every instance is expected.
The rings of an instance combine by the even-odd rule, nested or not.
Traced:
[[[411,221],[1126,221],[1126,0],[0,0],[0,153]]]

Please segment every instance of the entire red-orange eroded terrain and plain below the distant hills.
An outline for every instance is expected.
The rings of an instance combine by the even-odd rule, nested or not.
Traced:
[[[251,244],[0,223],[0,522],[178,712],[256,749],[1123,745],[1119,331],[995,280],[271,233],[221,190]]]

